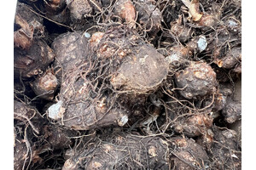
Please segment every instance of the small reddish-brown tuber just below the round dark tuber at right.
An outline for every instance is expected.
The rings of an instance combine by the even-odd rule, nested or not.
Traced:
[[[196,137],[206,134],[207,129],[212,127],[213,118],[210,114],[198,114],[182,118],[174,125],[177,133],[183,133],[188,137]]]

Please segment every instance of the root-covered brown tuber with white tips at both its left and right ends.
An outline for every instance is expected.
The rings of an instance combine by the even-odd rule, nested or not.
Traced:
[[[128,122],[128,114],[119,108],[111,108],[111,96],[92,98],[92,88],[88,81],[75,72],[69,74],[61,83],[60,103],[55,110],[49,110],[51,118],[66,127],[75,130],[89,130],[110,125],[124,126]],[[55,113],[52,113],[54,111]]]

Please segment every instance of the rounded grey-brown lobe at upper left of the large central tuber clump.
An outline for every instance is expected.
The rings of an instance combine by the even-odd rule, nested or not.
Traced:
[[[67,32],[55,38],[52,48],[55,52],[55,75],[61,78],[62,74],[72,71],[88,55],[87,42],[81,32]]]

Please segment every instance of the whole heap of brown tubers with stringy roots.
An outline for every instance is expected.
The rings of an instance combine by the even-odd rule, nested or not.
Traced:
[[[241,169],[241,1],[18,0],[14,168]]]

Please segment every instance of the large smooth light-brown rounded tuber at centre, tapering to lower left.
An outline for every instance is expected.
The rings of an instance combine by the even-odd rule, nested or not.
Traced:
[[[139,94],[155,90],[167,76],[168,65],[164,56],[148,45],[133,50],[137,54],[126,57],[117,74],[111,78],[111,84],[119,90]]]

